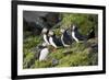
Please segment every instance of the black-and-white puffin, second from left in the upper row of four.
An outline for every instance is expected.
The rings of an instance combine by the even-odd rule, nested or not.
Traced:
[[[49,43],[55,48],[63,47],[63,44],[59,37],[56,36],[56,34],[52,31],[49,31]]]

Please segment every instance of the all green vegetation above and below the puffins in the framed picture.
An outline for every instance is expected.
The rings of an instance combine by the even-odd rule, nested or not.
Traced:
[[[61,25],[55,30],[57,35],[61,35],[60,28],[68,28],[71,24],[77,24],[82,34],[87,34],[92,27],[97,31],[96,14],[70,14],[60,13]],[[25,33],[25,32],[24,32]],[[97,37],[96,37],[97,38]],[[73,43],[69,48],[60,47],[58,49],[49,47],[49,55],[46,61],[38,61],[36,58],[37,50],[33,49],[43,42],[41,35],[23,39],[23,68],[50,68],[50,67],[75,67],[75,66],[94,66],[98,64],[98,52],[92,48],[97,44],[97,39],[92,38],[86,43]],[[53,65],[52,59],[57,59],[58,64]]]

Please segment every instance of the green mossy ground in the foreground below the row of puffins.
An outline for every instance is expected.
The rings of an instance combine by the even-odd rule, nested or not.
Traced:
[[[31,37],[35,38],[36,37]],[[87,44],[94,41],[89,39]],[[34,42],[35,43],[35,42]],[[33,45],[34,45],[33,43]],[[25,45],[25,44],[24,44]],[[37,46],[37,45],[35,45]],[[35,54],[29,50],[24,50],[24,68],[48,68],[48,67],[74,67],[74,66],[94,66],[97,65],[97,52],[93,52],[90,47],[87,47],[83,43],[73,43],[69,48],[50,48],[49,57],[47,61],[38,61],[35,58]],[[57,59],[59,64],[52,65],[52,58]]]

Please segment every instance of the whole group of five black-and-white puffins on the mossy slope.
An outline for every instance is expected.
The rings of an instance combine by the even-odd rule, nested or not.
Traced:
[[[66,30],[61,28],[60,32],[62,33],[61,36],[57,37],[53,31],[46,27],[43,28],[41,34],[44,43],[38,46],[39,52],[37,53],[39,61],[47,60],[47,56],[49,54],[49,48],[47,46],[49,45],[53,48],[69,47],[73,42],[80,43],[80,41],[87,39],[87,36],[82,35],[78,32],[78,27],[75,25],[72,25],[71,28]],[[69,32],[71,32],[71,35]]]

